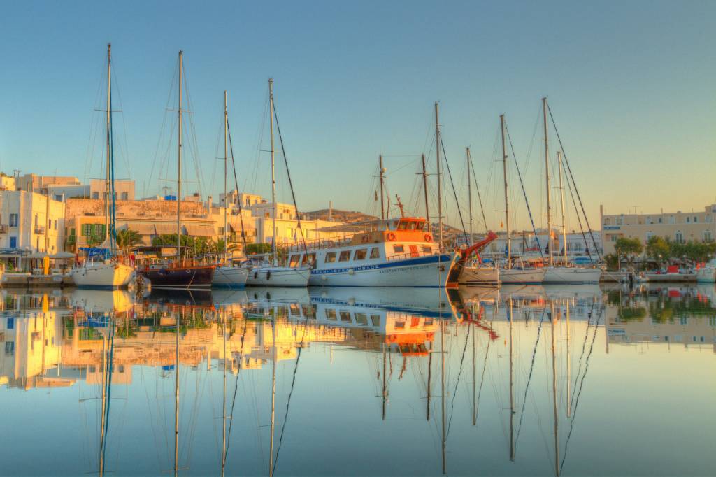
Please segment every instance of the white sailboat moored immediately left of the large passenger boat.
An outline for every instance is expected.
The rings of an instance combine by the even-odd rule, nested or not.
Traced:
[[[246,284],[249,286],[308,286],[309,277],[311,276],[311,266],[314,264],[304,261],[302,263],[289,263],[288,266],[279,265],[276,250],[276,214],[278,213],[278,206],[276,204],[276,170],[274,160],[273,78],[269,78],[269,130],[271,135],[271,201],[273,201],[273,210],[271,211],[271,228],[273,230],[271,254],[273,258],[270,263],[253,266],[251,270],[248,271]],[[309,256],[306,254],[306,259],[308,258]]]

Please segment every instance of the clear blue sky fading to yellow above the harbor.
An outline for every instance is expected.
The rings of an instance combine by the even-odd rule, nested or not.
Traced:
[[[460,225],[457,195],[468,223],[469,146],[487,226],[504,227],[504,114],[515,152],[508,158],[511,225],[531,227],[517,163],[536,226],[543,226],[543,96],[594,228],[600,204],[605,213],[650,213],[700,211],[716,202],[714,2],[27,1],[3,10],[5,173],[103,174],[103,113],[96,110],[103,107],[112,42],[113,107],[121,109],[114,120],[116,174],[137,180],[138,196],[175,178],[175,112],[168,110],[176,108],[170,92],[182,49],[193,122],[185,141],[197,145],[185,161],[185,191],[216,197],[223,189],[217,158],[227,90],[239,188],[270,195],[264,151],[273,77],[301,211],[332,201],[334,208],[378,213],[374,175],[382,154],[392,203],[400,195],[407,213],[424,214],[416,173],[422,153],[435,173],[437,101],[455,183],[453,194],[444,170],[448,221]],[[548,142],[555,186],[551,124]],[[429,180],[434,216],[435,175]],[[290,202],[283,168],[277,181],[279,200]],[[479,230],[475,195],[473,188]],[[558,214],[559,191],[552,195]],[[566,196],[566,221],[576,228]]]

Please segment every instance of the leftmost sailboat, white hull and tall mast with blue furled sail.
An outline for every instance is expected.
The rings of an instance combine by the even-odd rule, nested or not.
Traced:
[[[69,276],[79,288],[126,288],[135,270],[120,263],[115,256],[115,158],[112,138],[112,44],[107,44],[107,164],[105,167],[105,241],[100,254],[89,250],[87,261],[74,266]],[[99,256],[100,259],[97,259]]]

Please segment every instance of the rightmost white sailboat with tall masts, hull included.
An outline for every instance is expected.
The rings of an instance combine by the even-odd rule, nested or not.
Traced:
[[[545,178],[547,185],[547,251],[549,254],[549,266],[542,279],[543,284],[569,284],[569,283],[599,283],[601,277],[601,269],[591,267],[583,268],[569,265],[567,261],[567,233],[564,223],[564,188],[562,187],[562,155],[561,151],[557,152],[558,168],[559,168],[559,190],[562,208],[562,241],[564,264],[555,266],[554,255],[552,253],[552,221],[550,206],[550,188],[549,188],[549,145],[547,140],[547,98],[542,98],[543,110],[543,128],[544,128],[544,160],[545,160]]]

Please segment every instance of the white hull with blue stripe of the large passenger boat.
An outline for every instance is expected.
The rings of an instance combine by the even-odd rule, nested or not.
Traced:
[[[314,269],[311,286],[443,288],[457,254],[384,261],[368,266]]]

